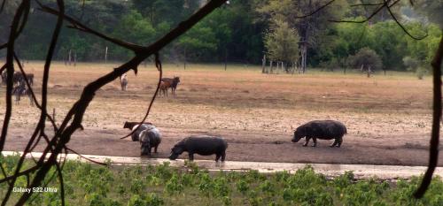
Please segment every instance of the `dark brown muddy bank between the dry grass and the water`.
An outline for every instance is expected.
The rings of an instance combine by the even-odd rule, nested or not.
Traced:
[[[428,134],[391,135],[380,138],[361,138],[346,135],[342,148],[328,147],[331,141],[319,141],[316,148],[302,147],[291,142],[291,134],[253,134],[245,131],[227,130],[207,133],[199,130],[167,129],[159,127],[163,140],[159,153],[152,158],[166,158],[176,141],[190,134],[221,135],[229,142],[227,160],[246,162],[279,162],[303,164],[384,164],[421,165],[428,161]],[[27,130],[12,130],[13,137],[6,142],[5,150],[23,150],[29,133]],[[130,138],[120,140],[129,130],[122,128],[86,128],[74,134],[68,147],[82,154],[102,156],[140,156],[138,142]],[[37,147],[35,151],[42,151]],[[183,154],[181,158],[186,158]],[[214,156],[196,156],[210,160]],[[439,166],[443,154],[439,155]]]

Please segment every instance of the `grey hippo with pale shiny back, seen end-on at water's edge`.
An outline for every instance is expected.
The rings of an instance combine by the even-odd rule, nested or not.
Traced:
[[[157,148],[161,142],[161,134],[157,127],[148,125],[144,131],[140,132],[139,138],[141,145],[141,156],[151,156],[151,149],[154,148],[154,153],[157,153]]]

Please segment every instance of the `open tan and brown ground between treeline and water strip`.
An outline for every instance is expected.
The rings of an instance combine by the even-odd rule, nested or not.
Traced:
[[[41,80],[41,63],[27,65]],[[51,72],[49,108],[58,124],[89,80],[115,65],[56,64]],[[360,73],[312,72],[305,75],[265,75],[260,68],[191,65],[183,71],[165,65],[165,76],[180,76],[175,97],[160,97],[149,121],[163,141],[154,157],[166,157],[176,141],[190,134],[220,135],[229,142],[227,159],[237,161],[425,165],[431,131],[431,79],[388,73],[366,78]],[[136,121],[155,88],[157,72],[141,68],[129,73],[128,91],[116,80],[101,89],[90,104],[83,126],[68,143],[82,154],[139,156],[138,142],[120,140],[128,134],[126,120]],[[40,86],[35,86],[38,90]],[[37,95],[40,92],[37,92]],[[0,90],[4,95],[4,87]],[[0,100],[4,105],[4,98]],[[4,115],[4,110],[0,111]],[[25,148],[38,111],[27,99],[14,105],[4,150]],[[291,143],[294,128],[313,119],[337,119],[348,128],[342,148],[319,141],[316,148]],[[0,122],[3,123],[3,122]],[[51,126],[48,127],[48,133]],[[35,151],[43,148],[41,144]],[[182,156],[186,157],[185,155]],[[196,156],[212,159],[214,156]],[[439,156],[443,165],[443,155]]]

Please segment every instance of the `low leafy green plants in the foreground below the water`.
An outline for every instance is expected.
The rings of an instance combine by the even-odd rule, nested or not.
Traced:
[[[19,156],[1,157],[11,174]],[[27,162],[29,164],[29,162]],[[68,161],[63,169],[66,205],[443,205],[443,181],[436,177],[423,199],[413,192],[420,181],[396,183],[355,180],[352,172],[326,179],[307,166],[294,174],[276,172],[207,172],[195,164],[98,166]],[[0,178],[3,177],[0,175]],[[47,178],[49,179],[49,178]],[[15,187],[26,187],[21,177]],[[4,195],[8,184],[0,185]],[[58,187],[57,178],[47,187]],[[12,193],[17,198],[19,193]],[[33,195],[29,205],[60,205],[57,193]]]

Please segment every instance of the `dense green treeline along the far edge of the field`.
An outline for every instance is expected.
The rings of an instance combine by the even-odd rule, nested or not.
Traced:
[[[7,1],[14,11],[14,1]],[[55,7],[54,1],[45,0]],[[66,12],[81,19],[89,27],[128,42],[148,45],[166,34],[171,28],[189,17],[205,3],[204,0],[66,0]],[[309,4],[296,4],[307,2]],[[359,51],[373,54],[381,64],[373,69],[416,70],[417,65],[429,63],[437,47],[441,29],[424,19],[414,17],[416,13],[406,5],[396,10],[402,22],[416,36],[427,35],[416,41],[405,34],[395,22],[382,12],[369,23],[330,23],[327,19],[364,19],[365,10],[349,6],[353,0],[338,1],[337,5],[309,17],[295,16],[313,11],[317,4],[326,1],[291,0],[233,0],[221,6],[197,26],[162,50],[161,55],[170,62],[242,62],[261,63],[264,54],[280,52],[284,58],[297,58],[306,50],[307,66],[338,68],[355,61],[353,57],[364,57]],[[312,3],[312,4],[311,4]],[[8,4],[6,10],[8,10]],[[34,5],[36,8],[36,5]],[[293,9],[291,6],[294,6]],[[295,7],[297,6],[297,7]],[[405,15],[406,14],[406,15]],[[0,14],[0,40],[4,42],[9,33],[13,13]],[[25,59],[43,59],[50,41],[55,17],[35,9],[27,23],[24,35],[18,40],[19,56]],[[411,18],[412,17],[412,18]],[[409,19],[408,19],[409,18]],[[280,22],[280,23],[276,23]],[[302,27],[310,25],[309,27]],[[314,25],[314,26],[312,26]],[[66,26],[68,26],[66,24]],[[278,33],[278,29],[283,29]],[[305,30],[303,30],[305,29]],[[285,32],[288,31],[288,32]],[[272,35],[274,33],[274,35]],[[287,36],[282,48],[278,46],[279,35]],[[294,40],[299,42],[294,42]],[[109,61],[120,61],[132,57],[128,50],[121,49],[93,35],[65,27],[60,36],[56,58],[66,60],[69,54],[78,61],[104,61],[107,48]],[[282,43],[280,41],[280,43]],[[276,48],[271,48],[277,44]],[[291,46],[286,46],[291,45]],[[370,50],[370,51],[368,51]],[[373,52],[372,52],[373,51]],[[372,52],[372,53],[371,53]],[[0,53],[0,57],[4,53]],[[377,58],[376,57],[376,58]]]

